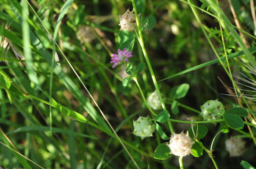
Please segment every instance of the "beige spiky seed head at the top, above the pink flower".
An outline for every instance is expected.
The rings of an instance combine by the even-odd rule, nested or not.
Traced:
[[[138,17],[140,19],[140,14],[138,14]],[[137,30],[137,22],[136,22],[133,9],[132,11],[127,9],[127,11],[123,15],[119,15],[119,20],[120,20],[120,24],[118,25],[121,26],[120,30],[134,31],[132,24]]]

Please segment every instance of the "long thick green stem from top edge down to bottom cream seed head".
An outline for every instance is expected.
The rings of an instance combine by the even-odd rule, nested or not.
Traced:
[[[131,0],[131,1],[132,1],[133,11],[134,11],[134,14],[135,14],[136,23],[137,23],[137,28],[138,28],[138,32],[139,32],[139,39],[138,39],[138,40],[139,40],[139,42],[140,42],[140,46],[141,46],[141,48],[142,48],[142,52],[143,52],[143,54],[144,54],[144,56],[145,56],[145,59],[146,59],[147,65],[148,65],[148,69],[149,69],[149,72],[150,72],[150,74],[151,74],[153,83],[154,83],[154,85],[155,85],[156,92],[157,92],[157,94],[158,94],[158,96],[159,96],[161,105],[162,105],[163,109],[167,111],[167,109],[166,109],[166,107],[165,107],[165,104],[164,104],[164,100],[163,100],[162,95],[161,95],[161,92],[160,92],[159,87],[158,87],[158,85],[157,85],[157,81],[156,81],[155,74],[154,74],[154,72],[153,72],[153,69],[152,69],[152,67],[151,67],[150,61],[149,61],[149,59],[148,59],[148,54],[147,54],[146,49],[145,49],[145,46],[144,46],[144,42],[143,42],[143,38],[142,38],[142,33],[141,33],[141,29],[140,29],[140,21],[139,21],[139,17],[138,17],[138,13],[137,13],[137,8],[136,8],[136,5],[135,5],[135,1],[134,1],[134,0]],[[171,133],[173,134],[173,133],[174,133],[174,130],[173,130],[173,128],[172,128],[171,122],[168,121],[167,123],[168,123],[168,125],[169,125],[170,130],[171,130]]]

